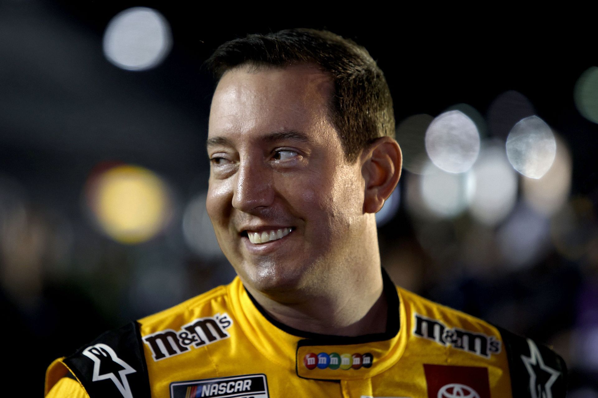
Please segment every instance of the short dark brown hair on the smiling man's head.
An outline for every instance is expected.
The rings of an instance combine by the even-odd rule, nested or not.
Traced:
[[[206,65],[219,80],[242,65],[316,63],[334,84],[331,118],[347,161],[375,139],[395,136],[392,97],[382,70],[364,47],[326,30],[286,29],[220,45]]]

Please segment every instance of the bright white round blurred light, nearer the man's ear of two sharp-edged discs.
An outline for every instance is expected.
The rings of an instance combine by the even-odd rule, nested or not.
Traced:
[[[461,111],[444,112],[426,130],[426,152],[432,163],[445,172],[466,172],[480,152],[478,128]]]

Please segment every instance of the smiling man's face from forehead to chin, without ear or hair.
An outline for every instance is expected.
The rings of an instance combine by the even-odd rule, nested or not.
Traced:
[[[364,178],[329,121],[331,93],[310,65],[234,69],[218,83],[206,207],[250,290],[325,286],[359,246]]]

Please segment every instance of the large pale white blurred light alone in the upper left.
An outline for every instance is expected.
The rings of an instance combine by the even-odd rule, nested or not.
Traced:
[[[103,48],[118,68],[145,71],[160,64],[172,47],[170,25],[156,10],[133,7],[121,11],[106,27]]]

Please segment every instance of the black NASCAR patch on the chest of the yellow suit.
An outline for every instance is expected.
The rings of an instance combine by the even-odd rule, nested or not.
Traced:
[[[266,375],[240,375],[170,383],[170,398],[269,398]]]

